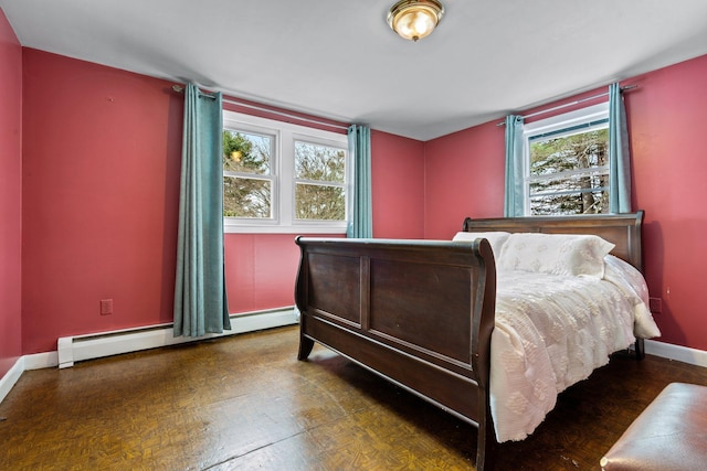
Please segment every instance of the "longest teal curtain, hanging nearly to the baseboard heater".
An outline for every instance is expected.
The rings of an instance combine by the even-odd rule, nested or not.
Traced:
[[[231,329],[223,263],[221,94],[187,85],[179,194],[175,336]]]

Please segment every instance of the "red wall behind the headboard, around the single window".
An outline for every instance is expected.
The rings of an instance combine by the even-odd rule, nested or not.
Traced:
[[[659,340],[699,350],[707,350],[705,83],[707,56],[622,82],[639,85],[625,94],[632,200],[646,212],[646,279],[651,296],[663,298]],[[466,215],[503,215],[505,142],[496,122],[426,142],[425,237],[450,237]]]

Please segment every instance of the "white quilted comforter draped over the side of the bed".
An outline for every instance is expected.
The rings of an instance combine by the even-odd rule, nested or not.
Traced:
[[[604,279],[497,275],[490,408],[498,441],[531,433],[560,392],[605,365],[635,335],[659,335],[645,283],[611,270],[611,263]]]

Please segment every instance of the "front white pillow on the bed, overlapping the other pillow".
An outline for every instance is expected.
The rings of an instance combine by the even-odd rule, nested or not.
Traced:
[[[511,234],[500,253],[498,269],[564,276],[604,276],[604,256],[614,248],[595,235]]]

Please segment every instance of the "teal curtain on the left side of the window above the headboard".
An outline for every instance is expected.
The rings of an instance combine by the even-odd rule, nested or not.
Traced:
[[[524,215],[525,182],[523,156],[523,116],[508,115],[506,117],[506,197],[504,200],[504,216],[517,217]]]

